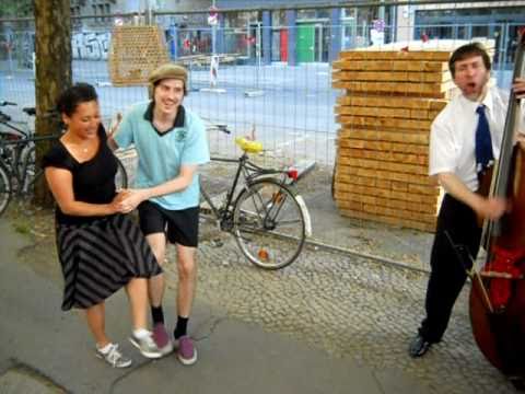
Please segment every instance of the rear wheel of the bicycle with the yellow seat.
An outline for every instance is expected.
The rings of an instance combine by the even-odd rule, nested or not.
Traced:
[[[261,179],[238,196],[233,234],[243,254],[265,269],[279,269],[298,258],[305,241],[305,218],[292,189]]]

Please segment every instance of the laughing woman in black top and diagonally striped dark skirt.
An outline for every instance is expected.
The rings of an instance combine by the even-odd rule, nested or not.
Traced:
[[[62,310],[85,311],[96,356],[112,367],[131,359],[105,332],[105,300],[126,288],[133,329],[131,343],[148,358],[161,352],[147,329],[148,279],[162,268],[140,229],[122,211],[125,193],[115,190],[117,162],[106,144],[95,89],[78,83],[58,100],[66,132],[44,157],[57,201],[57,248],[63,279]]]

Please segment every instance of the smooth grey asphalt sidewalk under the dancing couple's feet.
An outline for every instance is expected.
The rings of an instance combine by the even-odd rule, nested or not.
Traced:
[[[122,291],[107,302],[107,327],[135,363],[126,370],[112,369],[94,357],[83,316],[60,311],[61,282],[21,263],[18,255],[27,245],[26,235],[4,219],[0,234],[1,393],[425,392],[399,371],[373,372],[350,358],[332,358],[228,318],[203,303],[196,305],[192,317],[198,363],[184,367],[173,355],[150,361],[125,339],[129,317]]]

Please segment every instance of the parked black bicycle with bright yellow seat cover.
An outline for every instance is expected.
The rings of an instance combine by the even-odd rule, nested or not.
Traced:
[[[230,134],[225,128],[221,130]],[[252,162],[248,153],[260,152],[260,142],[244,138],[235,142],[243,150],[238,159],[211,158],[237,164],[221,206],[215,206],[199,181],[202,202],[206,201],[200,205],[200,217],[211,218],[221,231],[232,234],[250,263],[265,269],[283,268],[299,257],[312,234],[308,209],[294,187],[300,176],[294,169],[264,169]],[[241,177],[244,184],[236,193]]]

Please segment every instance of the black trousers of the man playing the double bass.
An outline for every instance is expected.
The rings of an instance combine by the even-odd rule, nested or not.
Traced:
[[[454,303],[467,278],[464,263],[470,263],[468,258],[463,258],[464,263],[460,262],[445,231],[448,232],[454,244],[463,245],[465,252],[476,259],[481,237],[476,213],[470,207],[448,194],[443,199],[438,217],[424,305],[427,317],[419,328],[419,334],[430,343],[438,343],[443,337]],[[470,266],[471,264],[468,268]]]

